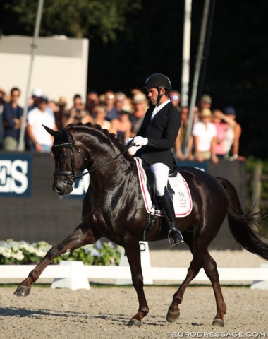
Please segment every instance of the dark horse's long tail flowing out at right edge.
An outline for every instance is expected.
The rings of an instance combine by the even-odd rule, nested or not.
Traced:
[[[268,260],[268,245],[257,237],[250,228],[251,225],[259,225],[260,221],[267,217],[261,213],[244,212],[238,198],[238,193],[228,180],[217,177],[226,191],[228,197],[228,221],[229,228],[236,241],[253,254]]]

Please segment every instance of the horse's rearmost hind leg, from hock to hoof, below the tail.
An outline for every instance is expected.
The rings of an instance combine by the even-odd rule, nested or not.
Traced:
[[[212,325],[224,326],[224,314],[226,314],[226,304],[224,302],[224,297],[221,292],[221,285],[219,284],[219,273],[217,270],[217,264],[214,259],[210,256],[209,252],[205,254],[204,257],[204,270],[207,274],[209,280],[212,283],[214,290],[214,295],[217,304],[217,314],[214,318]]]

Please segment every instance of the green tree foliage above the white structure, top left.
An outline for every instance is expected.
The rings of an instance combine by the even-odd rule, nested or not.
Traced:
[[[20,34],[32,35],[38,1],[11,0],[3,5],[4,25],[12,32],[12,22],[20,27]],[[141,0],[44,0],[42,36],[100,37],[103,42],[116,40],[116,33],[124,30],[126,16],[142,8]],[[4,18],[3,18],[4,19]]]

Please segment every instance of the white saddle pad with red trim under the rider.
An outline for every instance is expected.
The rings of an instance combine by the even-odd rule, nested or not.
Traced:
[[[147,213],[154,213],[158,216],[164,217],[164,213],[161,210],[155,210],[154,205],[152,204],[152,199],[147,189],[146,173],[142,167],[142,159],[140,159],[140,157],[135,157],[135,161],[138,169],[140,188],[142,190],[142,196],[145,202]],[[190,195],[188,184],[180,173],[178,173],[176,177],[169,178],[169,184],[175,192],[175,194],[172,194],[172,198],[176,218],[185,217],[186,215],[190,214],[193,208],[193,201]]]

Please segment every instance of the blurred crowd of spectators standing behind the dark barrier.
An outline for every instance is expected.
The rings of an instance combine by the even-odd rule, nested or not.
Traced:
[[[85,102],[81,95],[75,94],[70,104],[63,96],[58,101],[49,100],[41,89],[35,88],[28,100],[25,149],[39,153],[51,151],[53,140],[43,124],[58,130],[68,124],[91,122],[108,129],[125,143],[138,132],[149,107],[142,91],[133,89],[130,93],[128,97],[113,90],[101,95],[91,91],[87,93]],[[202,95],[194,108],[193,126],[188,138],[189,107],[181,107],[178,90],[172,90],[169,97],[181,113],[181,128],[173,150],[177,160],[211,160],[214,164],[219,159],[244,160],[239,155],[241,126],[236,121],[234,107],[212,108],[212,97]],[[23,116],[19,98],[19,88],[11,88],[8,94],[0,87],[0,150],[18,150]]]

